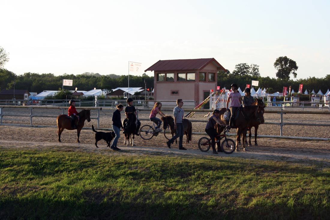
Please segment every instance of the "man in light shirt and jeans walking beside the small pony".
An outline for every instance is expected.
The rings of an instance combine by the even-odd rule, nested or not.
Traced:
[[[184,110],[182,108],[183,101],[182,99],[177,100],[177,106],[173,109],[173,116],[174,116],[174,129],[177,130],[176,134],[166,142],[167,147],[171,148],[171,143],[179,137],[179,150],[187,150],[182,146],[182,140],[183,140],[183,116],[184,116]]]

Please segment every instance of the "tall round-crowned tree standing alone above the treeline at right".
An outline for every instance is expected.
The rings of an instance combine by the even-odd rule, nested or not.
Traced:
[[[294,78],[297,78],[297,63],[286,56],[278,57],[275,60],[274,67],[277,69],[276,77],[279,79],[289,80],[291,73]]]

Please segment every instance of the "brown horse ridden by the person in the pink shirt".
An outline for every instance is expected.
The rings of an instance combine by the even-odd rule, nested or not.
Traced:
[[[245,139],[246,139],[246,134],[248,130],[248,125],[250,121],[256,121],[257,120],[257,115],[258,115],[258,110],[261,109],[262,106],[258,105],[250,105],[242,108],[241,111],[239,111],[238,118],[235,120],[235,126],[237,127],[237,136],[236,136],[236,151],[239,151],[238,149],[238,143],[240,140],[241,134],[243,134],[243,150],[246,151],[247,149],[245,148]],[[220,109],[220,115],[221,115],[221,120],[225,122],[227,125],[229,121],[226,121],[223,117],[223,114],[225,113],[226,109],[222,108]],[[262,112],[263,114],[263,112]],[[220,128],[219,132],[222,132],[223,128]]]

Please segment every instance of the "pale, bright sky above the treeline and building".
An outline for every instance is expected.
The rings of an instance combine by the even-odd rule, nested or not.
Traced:
[[[297,79],[322,78],[330,74],[329,8],[329,0],[0,0],[0,47],[16,75],[128,75],[129,61],[145,70],[214,57],[230,72],[256,64],[276,78],[274,62],[287,56]]]

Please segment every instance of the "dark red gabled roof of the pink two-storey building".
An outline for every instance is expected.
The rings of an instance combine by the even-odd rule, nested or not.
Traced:
[[[199,70],[203,69],[209,63],[212,63],[217,67],[218,70],[227,71],[223,66],[221,66],[215,58],[200,58],[200,59],[168,59],[159,60],[152,66],[150,66],[147,71],[164,71],[164,70]]]

